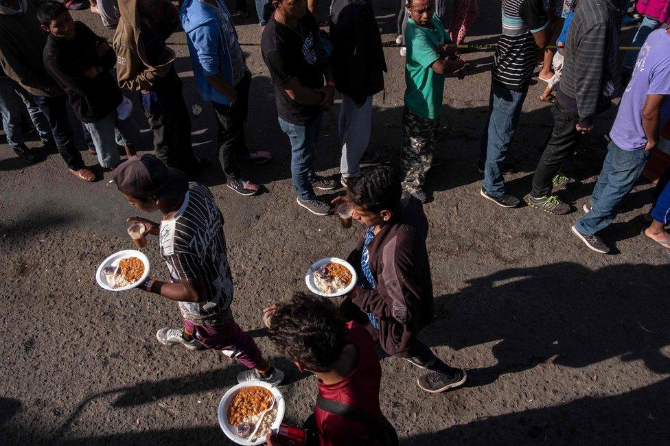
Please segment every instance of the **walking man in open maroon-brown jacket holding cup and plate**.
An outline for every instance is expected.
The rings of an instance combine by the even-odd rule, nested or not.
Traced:
[[[428,219],[421,202],[402,190],[395,169],[378,165],[347,183],[352,217],[365,224],[347,259],[359,283],[340,305],[346,320],[367,327],[389,355],[401,357],[428,373],[417,380],[421,390],[443,392],[465,383],[466,373],[445,364],[419,339],[433,318],[432,280],[426,249]]]

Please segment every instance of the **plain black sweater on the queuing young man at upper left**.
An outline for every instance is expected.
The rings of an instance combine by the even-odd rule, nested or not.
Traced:
[[[82,122],[106,117],[121,104],[123,98],[109,72],[116,62],[116,54],[109,48],[99,58],[96,42],[106,43],[106,40],[95,35],[84,23],[75,22],[75,37],[72,40],[49,34],[44,48],[47,71],[65,90],[74,113]],[[93,79],[84,75],[84,71],[91,67],[102,69]]]

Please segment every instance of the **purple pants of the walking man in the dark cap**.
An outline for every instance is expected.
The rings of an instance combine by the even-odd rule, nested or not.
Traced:
[[[256,368],[263,361],[263,355],[251,336],[242,331],[232,319],[223,325],[213,327],[195,325],[190,320],[184,320],[184,326],[207,349],[220,350],[247,368]]]

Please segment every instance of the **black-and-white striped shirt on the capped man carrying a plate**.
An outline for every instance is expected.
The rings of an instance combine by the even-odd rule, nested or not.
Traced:
[[[233,279],[228,265],[223,216],[209,189],[190,183],[181,208],[161,222],[161,256],[172,282],[201,279],[203,302],[180,302],[182,316],[196,325],[220,325],[229,320]]]

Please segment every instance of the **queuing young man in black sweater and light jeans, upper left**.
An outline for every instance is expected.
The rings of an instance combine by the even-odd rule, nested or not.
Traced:
[[[91,132],[100,165],[113,169],[121,162],[117,144],[131,156],[135,152],[130,141],[139,139],[135,121],[128,115],[119,117],[117,112],[124,97],[109,73],[116,63],[114,50],[84,23],[73,21],[58,1],[42,3],[37,18],[42,30],[49,33],[43,54],[47,71],[65,90],[78,119]]]

